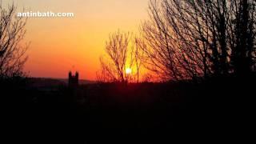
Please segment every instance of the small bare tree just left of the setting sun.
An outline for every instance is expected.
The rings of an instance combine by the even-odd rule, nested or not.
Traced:
[[[126,66],[128,63],[130,33],[122,33],[120,30],[110,34],[106,42],[106,57],[100,58],[102,70],[98,74],[100,81],[122,82],[127,81]]]

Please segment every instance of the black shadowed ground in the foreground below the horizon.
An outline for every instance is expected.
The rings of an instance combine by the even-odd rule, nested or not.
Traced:
[[[26,80],[2,81],[2,136],[8,143],[230,142],[238,138],[245,142],[252,135],[255,82],[251,77],[198,84],[38,88]]]

